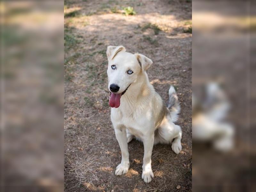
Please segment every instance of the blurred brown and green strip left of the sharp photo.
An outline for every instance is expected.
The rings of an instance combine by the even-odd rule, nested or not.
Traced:
[[[64,3],[0,5],[0,191],[63,191]]]

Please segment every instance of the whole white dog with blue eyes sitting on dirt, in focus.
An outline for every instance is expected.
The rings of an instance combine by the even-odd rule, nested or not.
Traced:
[[[169,111],[149,83],[146,70],[153,62],[146,56],[126,52],[123,46],[108,46],[107,57],[111,121],[122,153],[115,174],[128,172],[130,163],[127,143],[135,136],[144,144],[142,179],[148,183],[154,177],[151,169],[154,144],[172,143],[172,150],[176,154],[181,151],[182,132],[180,126],[173,123],[180,111],[178,97],[171,86]]]

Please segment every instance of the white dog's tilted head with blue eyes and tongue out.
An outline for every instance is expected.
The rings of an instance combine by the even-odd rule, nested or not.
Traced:
[[[121,96],[153,62],[144,55],[126,52],[123,46],[108,46],[107,57],[109,105],[118,108]]]

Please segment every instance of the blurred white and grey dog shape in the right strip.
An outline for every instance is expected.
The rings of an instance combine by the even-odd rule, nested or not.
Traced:
[[[215,149],[228,151],[234,145],[234,128],[225,121],[230,109],[227,96],[217,83],[200,89],[196,90],[200,96],[194,91],[192,95],[192,139],[210,141]]]

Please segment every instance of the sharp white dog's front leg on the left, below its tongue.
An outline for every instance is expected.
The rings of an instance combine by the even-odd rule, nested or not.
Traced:
[[[116,175],[122,175],[128,172],[130,162],[129,162],[129,152],[128,152],[128,144],[127,144],[127,137],[125,127],[123,126],[116,126],[115,127],[115,134],[116,139],[119,143],[121,153],[122,153],[122,160],[121,163],[116,167]]]

